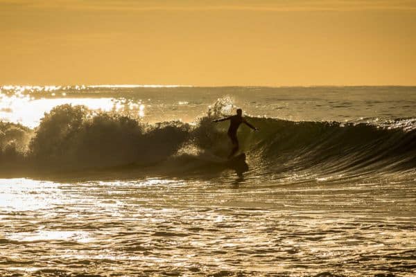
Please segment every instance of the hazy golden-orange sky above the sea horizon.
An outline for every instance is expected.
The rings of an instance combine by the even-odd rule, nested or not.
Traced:
[[[416,84],[416,0],[0,0],[0,84]]]

